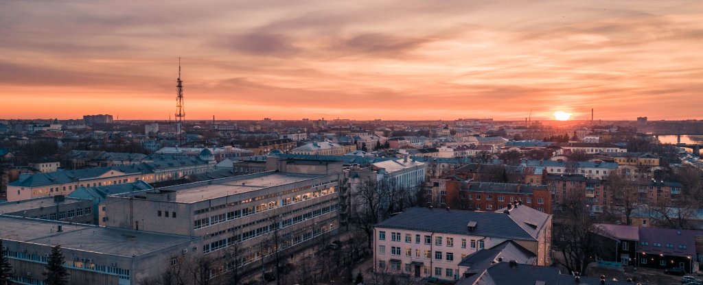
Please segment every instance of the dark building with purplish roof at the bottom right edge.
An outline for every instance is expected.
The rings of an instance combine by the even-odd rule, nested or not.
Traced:
[[[598,224],[594,233],[617,244],[617,252],[603,258],[623,265],[659,270],[679,267],[693,273],[698,271],[698,263],[703,260],[696,249],[697,240],[703,237],[700,230]]]

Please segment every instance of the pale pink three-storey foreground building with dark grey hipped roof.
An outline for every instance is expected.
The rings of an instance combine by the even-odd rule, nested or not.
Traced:
[[[552,216],[517,206],[496,212],[408,208],[376,225],[376,272],[454,280],[459,263],[471,253],[514,241],[550,264]]]

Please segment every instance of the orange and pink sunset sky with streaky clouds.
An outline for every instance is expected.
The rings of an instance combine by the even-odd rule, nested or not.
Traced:
[[[703,1],[0,1],[0,118],[703,119]]]

